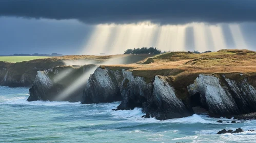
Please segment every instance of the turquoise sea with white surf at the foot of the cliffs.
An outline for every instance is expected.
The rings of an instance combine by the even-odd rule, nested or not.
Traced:
[[[141,118],[139,108],[112,111],[120,102],[27,102],[28,96],[28,88],[0,86],[0,142],[256,142],[256,132],[216,135],[256,129],[256,121],[221,124],[196,114],[157,121]]]

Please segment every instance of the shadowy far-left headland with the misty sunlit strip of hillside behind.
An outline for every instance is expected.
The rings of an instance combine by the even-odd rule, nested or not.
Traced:
[[[11,87],[30,87],[35,79],[38,70],[47,70],[56,66],[85,64],[131,64],[144,60],[145,58],[148,58],[150,56],[152,55],[77,55],[34,59],[30,61],[15,63],[0,61],[0,85]]]

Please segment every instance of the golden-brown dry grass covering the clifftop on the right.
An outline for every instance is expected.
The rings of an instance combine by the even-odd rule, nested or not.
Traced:
[[[204,54],[170,52],[125,66],[130,67],[128,69],[134,76],[144,77],[148,82],[156,75],[171,76],[175,80],[194,78],[199,74],[256,73],[256,53],[249,50],[220,50]]]

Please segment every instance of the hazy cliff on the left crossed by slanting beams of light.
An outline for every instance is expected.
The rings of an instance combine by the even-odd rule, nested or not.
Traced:
[[[86,82],[81,82],[80,87],[68,89],[95,65],[85,65],[79,68],[60,66],[45,71],[37,71],[35,81],[29,89],[30,96],[27,101],[81,101]],[[77,87],[77,86],[76,86]],[[69,92],[72,90],[72,92]]]

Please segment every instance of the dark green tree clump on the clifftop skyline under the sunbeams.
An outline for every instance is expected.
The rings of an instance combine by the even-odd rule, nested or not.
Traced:
[[[154,55],[154,54],[160,54],[161,50],[156,49],[156,47],[142,47],[142,48],[137,48],[137,49],[128,49],[124,52],[124,54],[150,54],[150,55]]]

